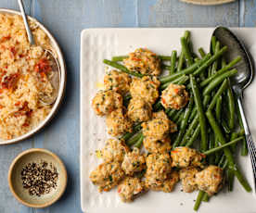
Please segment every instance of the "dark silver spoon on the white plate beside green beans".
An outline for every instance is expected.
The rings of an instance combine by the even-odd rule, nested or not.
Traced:
[[[218,27],[213,31],[213,35],[222,44],[228,47],[228,51],[225,54],[226,59],[231,61],[237,56],[241,56],[241,61],[237,64],[237,75],[231,78],[232,89],[237,96],[237,103],[241,113],[246,141],[250,153],[251,166],[253,170],[254,182],[256,181],[256,148],[252,142],[250,129],[243,109],[243,90],[246,89],[253,79],[253,66],[249,52],[245,46],[238,40],[237,36],[230,30],[224,27]]]

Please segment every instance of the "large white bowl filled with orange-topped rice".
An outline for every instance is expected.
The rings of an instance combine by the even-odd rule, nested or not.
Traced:
[[[56,114],[65,91],[66,67],[57,41],[36,19],[30,18],[30,25],[33,46],[19,12],[0,8],[0,144],[17,143],[41,130]],[[60,67],[58,97],[51,106],[40,99],[54,90],[45,49]]]

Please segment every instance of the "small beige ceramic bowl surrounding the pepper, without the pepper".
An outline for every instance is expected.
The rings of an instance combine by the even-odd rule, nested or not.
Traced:
[[[49,194],[41,196],[30,195],[28,190],[22,186],[21,169],[28,163],[40,163],[42,160],[52,163],[56,167],[58,171],[57,187],[52,189]],[[38,148],[32,148],[20,153],[13,160],[8,173],[10,191],[20,203],[27,207],[48,207],[58,201],[66,189],[67,180],[67,170],[59,157],[48,150]]]

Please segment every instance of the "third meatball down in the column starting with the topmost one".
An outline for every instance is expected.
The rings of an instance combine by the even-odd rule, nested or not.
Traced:
[[[134,122],[143,122],[151,119],[152,107],[144,99],[133,97],[128,106],[128,117]]]

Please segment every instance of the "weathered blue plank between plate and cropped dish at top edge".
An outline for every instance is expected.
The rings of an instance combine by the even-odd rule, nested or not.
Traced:
[[[142,27],[238,26],[238,1],[222,6],[195,6],[179,0],[138,1]]]

